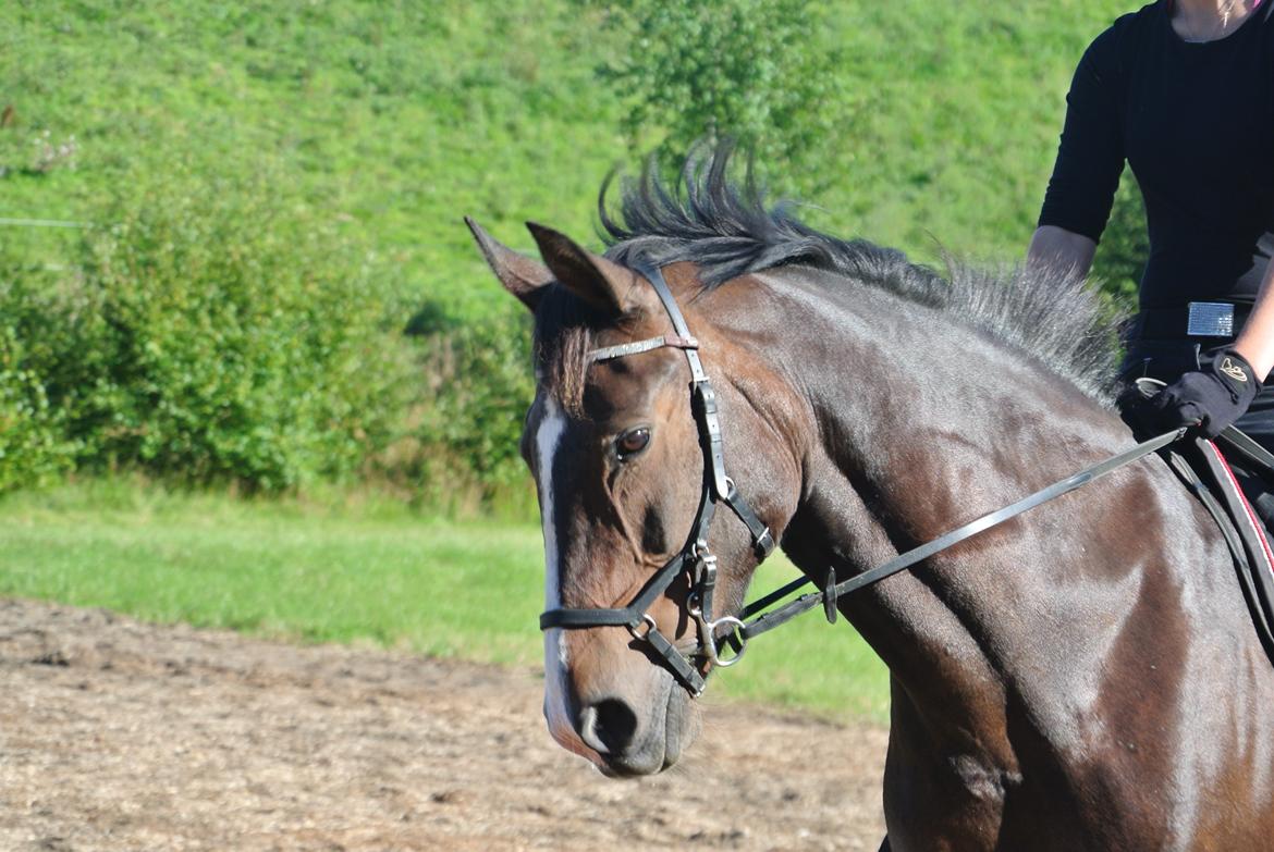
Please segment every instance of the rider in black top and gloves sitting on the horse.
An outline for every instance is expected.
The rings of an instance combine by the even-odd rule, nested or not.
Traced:
[[[1148,432],[1236,423],[1274,451],[1274,0],[1157,0],[1084,52],[1028,264],[1092,265],[1125,160],[1150,253],[1124,371]],[[1266,526],[1274,494],[1251,478]],[[1254,488],[1255,486],[1255,488]]]

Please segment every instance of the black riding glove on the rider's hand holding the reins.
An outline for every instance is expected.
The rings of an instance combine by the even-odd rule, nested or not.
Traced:
[[[1260,390],[1251,364],[1233,349],[1222,349],[1201,369],[1186,373],[1154,396],[1131,400],[1124,416],[1139,436],[1195,427],[1204,438],[1215,438],[1242,416]]]

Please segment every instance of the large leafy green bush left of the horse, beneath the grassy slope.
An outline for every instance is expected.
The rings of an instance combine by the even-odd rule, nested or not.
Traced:
[[[389,442],[406,358],[386,288],[331,227],[279,208],[269,176],[175,168],[127,187],[70,271],[0,260],[10,369],[80,467],[279,490]]]

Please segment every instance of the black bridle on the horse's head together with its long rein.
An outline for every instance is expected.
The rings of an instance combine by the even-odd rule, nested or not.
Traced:
[[[655,288],[660,302],[664,304],[664,309],[673,321],[674,334],[594,349],[589,353],[589,362],[612,360],[664,348],[680,349],[685,353],[685,360],[691,367],[691,409],[698,427],[699,446],[703,451],[703,485],[699,493],[699,506],[694,516],[694,522],[691,525],[691,534],[685,540],[685,545],[642,586],[641,591],[637,592],[627,606],[599,609],[558,607],[547,610],[540,615],[540,629],[628,628],[628,632],[636,641],[645,642],[651,647],[654,653],[694,698],[702,695],[705,688],[705,675],[701,674],[699,667],[694,662],[696,660],[707,661],[713,666],[731,666],[743,657],[749,639],[772,630],[781,624],[786,624],[819,604],[823,606],[827,620],[834,623],[836,604],[840,597],[865,588],[885,577],[892,577],[964,539],[1017,517],[1036,506],[1056,499],[1077,488],[1082,488],[1099,476],[1105,476],[1119,467],[1173,443],[1186,433],[1186,429],[1182,428],[1144,441],[1130,450],[1116,453],[1105,461],[1057,480],[1033,494],[1028,494],[1015,503],[984,515],[945,535],[898,554],[883,565],[865,571],[840,583],[836,581],[834,568],[829,567],[822,590],[801,595],[778,609],[764,611],[767,607],[813,581],[808,577],[792,581],[749,604],[738,616],[724,615],[713,619],[712,595],[716,588],[717,560],[716,555],[708,549],[707,539],[708,526],[712,523],[712,517],[716,513],[716,504],[725,503],[747,525],[748,531],[752,534],[752,546],[758,562],[773,553],[775,539],[769,532],[769,527],[757,517],[757,513],[753,512],[752,507],[735,488],[734,480],[725,472],[725,447],[721,438],[721,418],[717,413],[716,392],[712,390],[712,383],[708,381],[707,373],[703,371],[703,363],[699,360],[698,340],[691,335],[689,327],[685,325],[685,318],[676,306],[676,299],[673,298],[673,292],[668,287],[668,281],[664,280],[664,275],[656,265],[638,261],[633,264],[632,269],[645,276],[651,283],[651,287]],[[698,633],[698,644],[689,655],[679,651],[659,630],[655,616],[648,611],[659,596],[682,574],[687,574],[689,578],[691,591],[687,610],[694,620]],[[725,628],[725,635],[717,635],[720,628]],[[725,647],[730,647],[734,655],[729,657],[722,655],[721,651]]]

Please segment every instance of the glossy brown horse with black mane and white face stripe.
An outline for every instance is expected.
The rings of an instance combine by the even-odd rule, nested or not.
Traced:
[[[1133,443],[1108,312],[1075,276],[943,276],[768,206],[727,162],[691,158],[676,187],[647,169],[618,219],[604,185],[604,253],[529,223],[536,260],[468,220],[534,313],[545,720],[613,777],[679,759],[726,662],[734,616],[705,621],[678,559],[710,553],[736,614],[766,553],[706,503],[745,498],[824,586]],[[689,354],[715,382],[715,451]],[[889,671],[882,849],[1274,843],[1274,674],[1217,526],[1158,456],[836,611]]]

